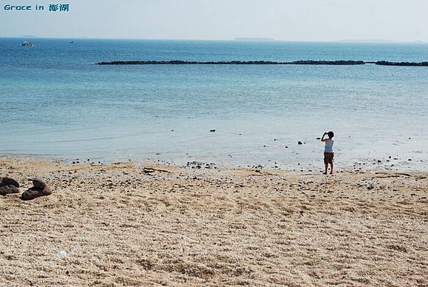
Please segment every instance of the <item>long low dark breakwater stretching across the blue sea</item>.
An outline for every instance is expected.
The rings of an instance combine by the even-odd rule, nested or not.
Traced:
[[[428,62],[389,62],[389,61],[312,61],[300,60],[290,62],[277,61],[108,61],[97,65],[332,65],[352,66],[374,64],[379,66],[428,66]]]

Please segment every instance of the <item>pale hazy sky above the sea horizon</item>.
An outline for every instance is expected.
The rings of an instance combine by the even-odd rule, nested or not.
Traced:
[[[0,36],[428,41],[428,0],[0,0]],[[69,12],[5,11],[69,4]]]

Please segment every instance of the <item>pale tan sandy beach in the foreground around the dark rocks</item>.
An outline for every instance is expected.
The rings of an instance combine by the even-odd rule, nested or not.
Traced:
[[[53,190],[0,196],[0,286],[428,285],[428,173],[2,157],[0,176]]]

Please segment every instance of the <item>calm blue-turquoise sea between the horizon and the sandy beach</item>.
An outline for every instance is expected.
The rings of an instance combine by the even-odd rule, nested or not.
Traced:
[[[24,40],[0,39],[1,154],[318,170],[332,130],[340,168],[428,170],[426,67],[94,64],[428,61],[428,44]]]

